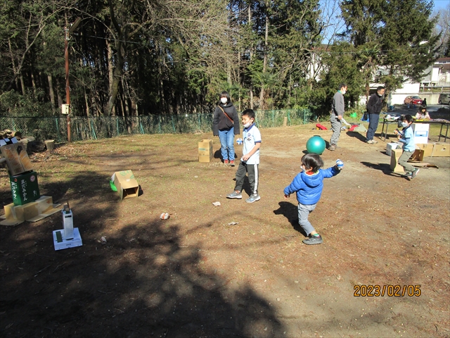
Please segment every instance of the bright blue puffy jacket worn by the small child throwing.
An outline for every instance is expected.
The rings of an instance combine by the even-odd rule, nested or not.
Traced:
[[[294,180],[288,187],[285,187],[284,194],[290,195],[297,192],[297,201],[300,204],[309,206],[316,204],[321,199],[323,189],[323,179],[338,175],[340,170],[331,167],[328,169],[319,169],[313,175],[307,175],[304,171],[294,177]]]

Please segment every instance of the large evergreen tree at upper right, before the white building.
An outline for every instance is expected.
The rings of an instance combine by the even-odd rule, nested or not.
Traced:
[[[370,77],[388,91],[407,79],[420,81],[435,61],[439,35],[432,33],[432,1],[345,0],[341,9],[345,37],[359,50],[358,68],[368,71],[367,88]]]

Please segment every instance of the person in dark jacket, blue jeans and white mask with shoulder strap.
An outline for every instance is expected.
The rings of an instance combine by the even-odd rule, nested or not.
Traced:
[[[239,117],[228,92],[221,92],[219,105],[212,118],[212,134],[220,140],[220,151],[225,164],[234,166],[234,135],[240,134]]]

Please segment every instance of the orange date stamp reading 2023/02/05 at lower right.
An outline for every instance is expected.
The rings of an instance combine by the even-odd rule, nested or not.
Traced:
[[[420,296],[420,285],[355,285],[355,297],[404,297]]]

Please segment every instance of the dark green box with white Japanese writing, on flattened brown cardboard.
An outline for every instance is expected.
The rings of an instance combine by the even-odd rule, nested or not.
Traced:
[[[21,175],[9,177],[11,192],[13,194],[13,203],[15,206],[34,202],[41,196],[39,194],[39,184],[37,184],[37,173],[30,171]]]

